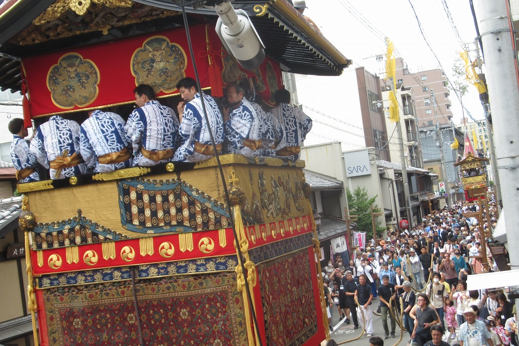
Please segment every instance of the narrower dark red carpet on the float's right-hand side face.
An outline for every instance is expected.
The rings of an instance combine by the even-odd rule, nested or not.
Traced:
[[[308,250],[266,262],[258,269],[267,344],[304,344],[317,332]]]

